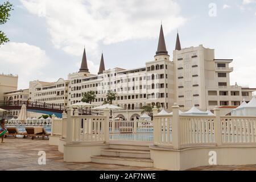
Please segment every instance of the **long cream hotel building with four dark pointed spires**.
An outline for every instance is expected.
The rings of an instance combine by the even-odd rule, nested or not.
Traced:
[[[250,101],[256,90],[230,85],[232,61],[216,59],[214,49],[202,45],[181,48],[179,34],[171,60],[161,26],[156,55],[144,67],[106,70],[102,54],[98,75],[93,75],[89,72],[84,49],[79,72],[69,74],[68,81],[60,78],[55,83],[30,82],[30,100],[69,106],[80,102],[82,95],[92,90],[96,93],[93,105],[102,105],[109,92],[117,93],[113,104],[123,109],[114,114],[127,119],[141,115],[144,105],[157,105],[171,111],[175,102],[181,110],[192,106],[200,110],[220,106],[228,108],[225,113],[228,114],[243,98]]]

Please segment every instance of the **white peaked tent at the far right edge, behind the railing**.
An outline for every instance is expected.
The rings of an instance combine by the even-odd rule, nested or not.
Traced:
[[[231,115],[235,116],[254,116],[256,115],[256,98],[255,96],[251,99],[251,101],[246,104],[245,101],[238,106],[236,109],[232,110]]]

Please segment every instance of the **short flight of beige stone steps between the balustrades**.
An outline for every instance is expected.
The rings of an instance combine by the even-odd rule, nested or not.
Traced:
[[[101,155],[92,156],[91,159],[93,163],[153,167],[148,146],[110,144],[110,148],[101,150]]]

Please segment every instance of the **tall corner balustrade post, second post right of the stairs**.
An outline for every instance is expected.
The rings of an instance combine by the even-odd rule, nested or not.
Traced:
[[[172,146],[174,149],[180,149],[180,107],[174,103],[172,106]]]

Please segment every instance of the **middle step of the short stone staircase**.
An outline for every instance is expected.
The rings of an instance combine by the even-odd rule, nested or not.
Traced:
[[[101,155],[150,159],[149,150],[123,150],[123,149],[108,148],[108,149],[101,150]]]

